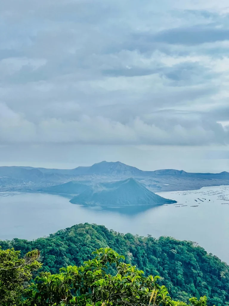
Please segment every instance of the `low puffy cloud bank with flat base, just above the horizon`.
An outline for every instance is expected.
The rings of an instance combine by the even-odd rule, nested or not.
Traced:
[[[49,118],[37,124],[27,121],[5,104],[0,104],[0,141],[14,143],[53,144],[147,144],[209,145],[227,144],[228,130],[217,123],[204,124],[187,114],[155,114],[145,120],[136,117],[127,123],[104,117],[82,115],[79,120]],[[166,118],[167,117],[167,118]]]

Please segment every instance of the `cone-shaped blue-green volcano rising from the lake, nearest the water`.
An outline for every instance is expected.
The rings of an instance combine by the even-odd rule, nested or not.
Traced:
[[[133,178],[128,178],[125,181],[97,184],[75,196],[70,202],[102,206],[176,203],[176,201],[156,195]]]

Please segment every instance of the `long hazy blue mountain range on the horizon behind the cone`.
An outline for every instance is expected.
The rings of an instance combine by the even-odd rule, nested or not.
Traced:
[[[78,194],[82,185],[123,181],[133,177],[153,192],[191,190],[203,186],[229,185],[229,173],[188,173],[183,170],[143,171],[122,162],[99,162],[75,169],[0,167],[0,191],[42,191]],[[69,182],[73,183],[69,183]],[[76,182],[80,184],[77,185]],[[68,185],[63,185],[69,183]],[[76,185],[75,185],[76,184]],[[82,185],[81,185],[82,184]],[[59,187],[57,187],[59,185]],[[79,189],[78,189],[79,188]]]

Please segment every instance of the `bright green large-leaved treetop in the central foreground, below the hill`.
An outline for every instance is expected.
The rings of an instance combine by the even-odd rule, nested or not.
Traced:
[[[59,274],[42,272],[31,284],[27,303],[31,306],[187,306],[175,302],[167,288],[156,282],[159,276],[144,277],[136,266],[123,262],[111,248],[93,252],[96,257],[80,267],[61,268]],[[116,274],[107,274],[114,265]],[[204,306],[206,297],[190,299],[189,305]]]

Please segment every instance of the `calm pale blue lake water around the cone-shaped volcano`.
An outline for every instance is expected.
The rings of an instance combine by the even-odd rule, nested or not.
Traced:
[[[178,201],[178,205],[127,215],[126,211],[95,210],[71,204],[69,199],[57,195],[1,192],[0,239],[31,240],[89,222],[122,233],[196,241],[207,252],[229,263],[229,186],[158,194]]]

